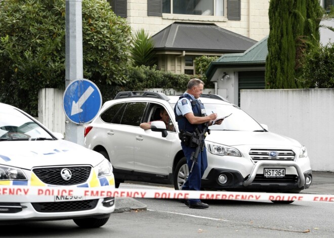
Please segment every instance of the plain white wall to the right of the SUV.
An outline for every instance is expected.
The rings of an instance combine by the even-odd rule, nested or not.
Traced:
[[[241,90],[240,107],[306,146],[312,170],[334,172],[334,88]]]

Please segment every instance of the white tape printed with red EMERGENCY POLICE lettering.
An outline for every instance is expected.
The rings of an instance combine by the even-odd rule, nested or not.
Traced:
[[[334,202],[334,195],[102,187],[0,186],[0,202],[70,201],[97,198]]]

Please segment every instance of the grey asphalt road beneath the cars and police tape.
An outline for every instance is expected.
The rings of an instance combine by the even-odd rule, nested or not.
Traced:
[[[121,184],[123,188],[134,186],[152,188],[152,184]],[[334,194],[334,173],[315,172],[313,185],[303,193]],[[304,238],[332,237],[334,233],[332,202],[206,202],[210,208],[198,210],[189,209],[178,200],[117,199],[115,213],[111,214],[107,224],[97,229],[81,229],[71,220],[24,222],[20,225],[2,226],[0,236]],[[125,210],[120,211],[120,208]]]

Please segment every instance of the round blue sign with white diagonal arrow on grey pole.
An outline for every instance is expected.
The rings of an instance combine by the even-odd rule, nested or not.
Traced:
[[[65,89],[63,109],[68,119],[76,124],[93,121],[102,106],[99,88],[88,79],[71,82]]]

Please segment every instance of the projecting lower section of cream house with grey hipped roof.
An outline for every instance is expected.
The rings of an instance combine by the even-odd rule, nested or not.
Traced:
[[[152,36],[158,69],[194,75],[199,56],[241,53],[257,41],[215,24],[174,22]]]

